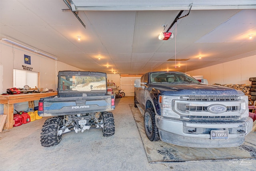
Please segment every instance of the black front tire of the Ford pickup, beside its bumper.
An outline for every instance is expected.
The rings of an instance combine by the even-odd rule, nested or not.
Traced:
[[[160,139],[158,128],[156,127],[155,115],[152,107],[147,108],[144,113],[144,128],[150,141],[158,141]]]

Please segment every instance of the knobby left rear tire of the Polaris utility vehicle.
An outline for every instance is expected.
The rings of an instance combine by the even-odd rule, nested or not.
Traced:
[[[58,135],[60,127],[63,125],[61,117],[51,117],[44,122],[41,132],[41,145],[51,147],[60,143],[62,135]]]

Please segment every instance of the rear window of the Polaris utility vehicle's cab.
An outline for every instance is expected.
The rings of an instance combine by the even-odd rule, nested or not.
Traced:
[[[106,77],[60,76],[59,87],[67,91],[106,90]]]

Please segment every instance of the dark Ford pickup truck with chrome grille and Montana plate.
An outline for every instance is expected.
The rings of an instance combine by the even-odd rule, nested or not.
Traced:
[[[236,147],[252,130],[248,96],[205,85],[182,72],[149,72],[134,82],[150,141],[185,147]]]

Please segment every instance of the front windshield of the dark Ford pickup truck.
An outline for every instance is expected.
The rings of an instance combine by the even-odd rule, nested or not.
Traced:
[[[150,82],[157,83],[200,83],[185,73],[157,72],[150,74]]]

